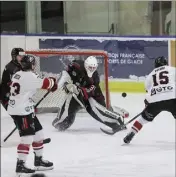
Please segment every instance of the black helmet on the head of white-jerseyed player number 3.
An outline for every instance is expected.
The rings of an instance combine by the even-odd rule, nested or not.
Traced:
[[[25,55],[20,63],[23,71],[33,70],[32,66],[35,66],[35,57],[33,55]]]

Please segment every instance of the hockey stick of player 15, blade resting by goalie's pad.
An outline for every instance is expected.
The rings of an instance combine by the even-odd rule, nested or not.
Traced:
[[[142,112],[143,112],[143,111],[142,111]],[[131,123],[131,122],[133,122],[135,119],[137,119],[137,118],[142,114],[142,112],[140,112],[140,113],[137,114],[135,117],[133,117],[132,119],[130,119],[130,120],[129,120],[127,123],[125,123],[124,125],[119,126],[116,130],[112,130],[111,132],[108,131],[108,130],[104,130],[104,129],[102,129],[102,128],[100,128],[100,130],[101,130],[103,133],[107,134],[107,135],[114,135],[115,133],[117,133],[117,132],[123,130],[129,123]]]

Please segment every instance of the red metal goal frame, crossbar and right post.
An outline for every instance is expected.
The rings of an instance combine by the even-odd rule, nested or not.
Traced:
[[[108,53],[103,50],[87,50],[87,49],[42,49],[42,50],[26,50],[25,54],[31,54],[34,56],[37,56],[39,58],[39,64],[40,60],[43,60],[45,58],[50,58],[53,56],[101,56],[103,58],[103,64],[104,64],[104,88],[105,88],[105,98],[106,98],[106,106],[110,107],[110,94],[109,94],[109,86],[108,86]],[[75,58],[76,59],[76,58]],[[52,60],[52,59],[51,59]],[[62,60],[62,58],[60,59]],[[69,60],[69,59],[68,59]],[[52,62],[52,61],[51,61]],[[63,68],[64,70],[64,68]],[[38,70],[36,70],[40,74],[40,67]]]

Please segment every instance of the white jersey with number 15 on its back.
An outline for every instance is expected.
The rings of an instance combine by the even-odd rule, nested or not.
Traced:
[[[162,66],[154,69],[146,78],[146,100],[149,103],[176,98],[176,68]]]

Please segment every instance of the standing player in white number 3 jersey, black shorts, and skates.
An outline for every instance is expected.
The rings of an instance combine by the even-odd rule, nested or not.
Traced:
[[[46,89],[54,92],[57,83],[54,78],[41,79],[33,72],[35,57],[25,55],[21,60],[22,71],[12,77],[10,99],[7,111],[14,119],[19,130],[21,141],[17,147],[16,173],[34,173],[35,170],[53,169],[53,163],[43,160],[43,128],[34,113],[33,94],[37,89]],[[30,145],[34,150],[34,166],[30,169],[25,166]]]

